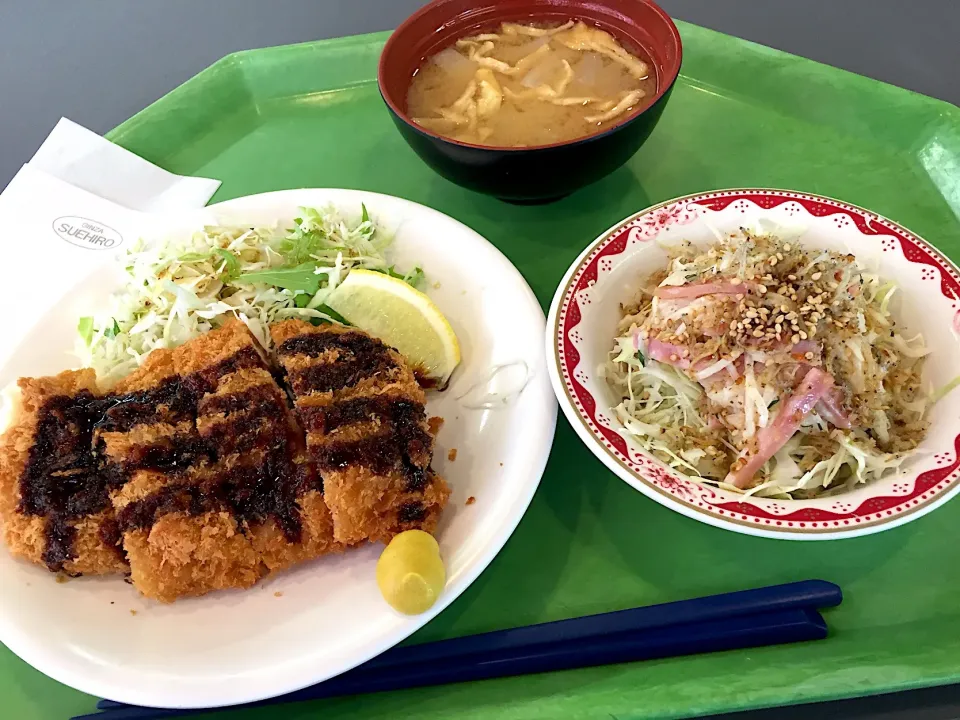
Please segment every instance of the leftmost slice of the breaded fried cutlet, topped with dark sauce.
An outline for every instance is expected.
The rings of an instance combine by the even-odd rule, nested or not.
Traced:
[[[92,370],[21,378],[0,442],[0,520],[14,555],[69,575],[125,572],[113,507],[91,444]]]

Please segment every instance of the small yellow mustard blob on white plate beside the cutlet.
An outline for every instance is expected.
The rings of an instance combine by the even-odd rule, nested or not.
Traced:
[[[397,612],[418,615],[437,601],[447,581],[440,546],[423,530],[400,533],[377,561],[377,586]]]

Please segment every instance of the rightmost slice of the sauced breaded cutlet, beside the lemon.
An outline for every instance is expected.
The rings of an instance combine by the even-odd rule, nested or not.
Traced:
[[[432,531],[450,489],[430,467],[426,397],[395,350],[355,328],[271,327],[307,451],[345,545]]]

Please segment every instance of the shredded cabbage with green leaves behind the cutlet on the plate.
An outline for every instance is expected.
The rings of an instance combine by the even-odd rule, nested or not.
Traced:
[[[416,286],[423,272],[389,266],[392,240],[371,219],[336,208],[300,208],[294,227],[205,227],[186,241],[138,242],[125,256],[127,286],[103,315],[80,318],[76,352],[109,386],[158,348],[221,325],[246,323],[265,348],[270,323],[300,318],[343,322],[324,301],[352,268],[388,273]]]

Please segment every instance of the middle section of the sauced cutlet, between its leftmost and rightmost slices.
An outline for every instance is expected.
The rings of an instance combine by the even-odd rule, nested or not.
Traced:
[[[118,388],[98,436],[144,595],[249,587],[339,549],[285,395],[242,323],[150,361]]]

